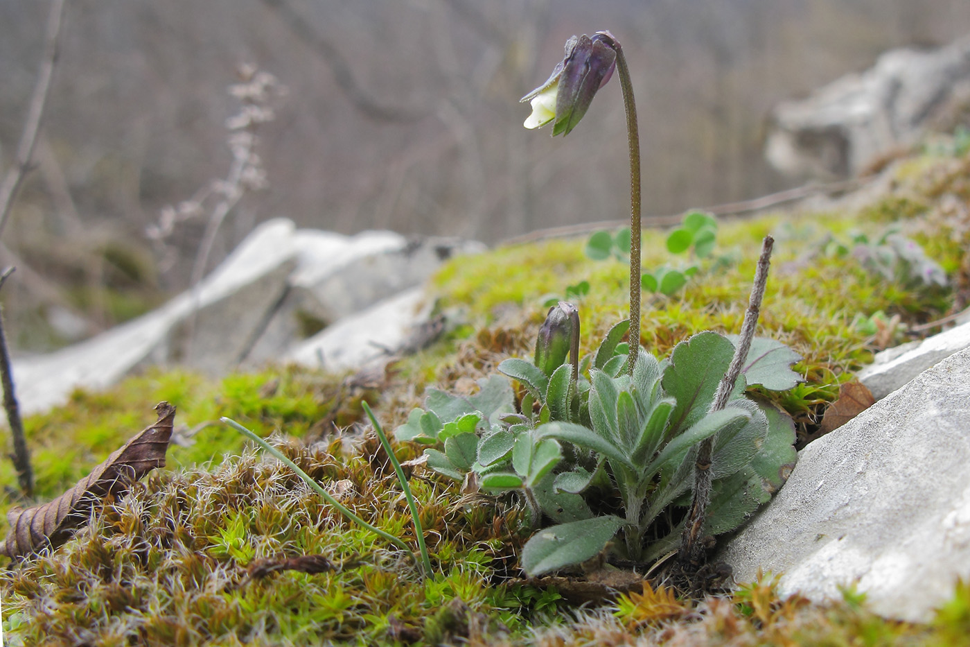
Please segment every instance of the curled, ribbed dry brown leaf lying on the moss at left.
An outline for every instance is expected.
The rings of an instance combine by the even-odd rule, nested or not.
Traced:
[[[165,466],[176,408],[168,402],[155,406],[158,421],[133,437],[77,485],[43,505],[7,513],[10,534],[0,555],[20,557],[46,546],[56,548],[87,521],[90,511],[108,495],[124,494],[129,484],[155,467]]]

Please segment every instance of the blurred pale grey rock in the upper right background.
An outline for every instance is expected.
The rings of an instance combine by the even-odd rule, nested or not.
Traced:
[[[852,177],[967,103],[970,37],[935,51],[889,51],[871,69],[775,108],[765,156],[794,177]]]

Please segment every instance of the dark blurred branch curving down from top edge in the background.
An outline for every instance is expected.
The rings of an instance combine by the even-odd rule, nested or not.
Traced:
[[[262,0],[262,2],[276,13],[294,36],[315,51],[330,66],[339,88],[346,94],[350,103],[366,117],[378,121],[406,122],[423,119],[428,114],[424,109],[402,108],[374,100],[354,80],[350,64],[338,48],[310,27],[309,21],[300,16],[287,0]]]

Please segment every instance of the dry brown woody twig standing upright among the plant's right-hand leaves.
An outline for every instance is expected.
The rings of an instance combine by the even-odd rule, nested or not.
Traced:
[[[744,323],[741,324],[737,348],[734,349],[734,357],[731,358],[730,364],[727,366],[727,373],[721,379],[721,383],[718,384],[714,401],[711,402],[708,410],[710,413],[720,411],[727,405],[727,399],[734,390],[734,382],[737,381],[737,376],[741,373],[741,366],[748,357],[748,351],[751,350],[751,342],[755,338],[755,328],[758,326],[761,299],[768,282],[768,266],[770,265],[771,250],[774,244],[774,238],[771,236],[764,237],[761,244],[761,255],[758,259],[758,268],[755,270],[755,282],[751,288],[751,298],[748,301],[748,311],[744,314]],[[697,539],[700,537],[700,530],[704,526],[704,517],[711,500],[711,454],[713,448],[714,438],[711,437],[701,441],[697,450],[694,472],[694,502],[688,512],[680,544],[679,559],[683,566],[692,562],[698,563],[702,557],[702,545]]]

